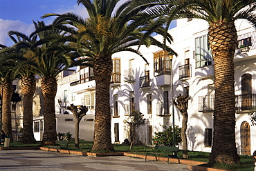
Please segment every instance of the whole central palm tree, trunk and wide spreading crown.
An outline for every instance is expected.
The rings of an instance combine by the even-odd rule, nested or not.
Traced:
[[[88,19],[83,19],[73,13],[46,14],[43,17],[57,16],[53,26],[71,27],[66,30],[77,39],[78,51],[84,56],[93,59],[93,72],[95,78],[95,132],[92,150],[113,150],[111,144],[111,114],[109,104],[109,84],[113,63],[111,56],[116,52],[130,51],[139,54],[132,46],[142,43],[149,46],[154,44],[159,47],[164,45],[153,37],[140,41],[146,25],[129,25],[128,19],[120,18],[125,8],[131,1],[123,3],[117,8],[119,0],[78,0],[88,14]],[[115,9],[117,8],[117,9]],[[125,23],[120,21],[126,20]],[[158,31],[163,31],[158,29]],[[168,41],[171,41],[170,35]],[[143,58],[144,59],[144,58]]]

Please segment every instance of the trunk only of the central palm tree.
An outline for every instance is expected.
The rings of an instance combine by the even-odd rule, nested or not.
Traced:
[[[109,83],[113,63],[111,57],[95,57],[95,131],[92,150],[113,150],[111,143],[111,114]]]

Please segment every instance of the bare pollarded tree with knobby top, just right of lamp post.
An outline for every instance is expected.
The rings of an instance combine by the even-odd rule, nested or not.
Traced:
[[[181,139],[182,139],[182,152],[183,152],[183,158],[188,159],[188,141],[186,136],[187,131],[187,123],[188,123],[188,100],[190,97],[187,97],[185,95],[179,96],[176,98],[176,101],[174,101],[174,105],[178,108],[180,111],[183,119],[182,119],[182,127],[181,127]]]

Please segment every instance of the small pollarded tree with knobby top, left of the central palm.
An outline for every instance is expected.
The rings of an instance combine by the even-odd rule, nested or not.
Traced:
[[[86,115],[88,108],[85,105],[79,105],[77,108],[77,106],[71,104],[67,109],[75,116],[75,148],[79,149],[79,123],[82,117]]]

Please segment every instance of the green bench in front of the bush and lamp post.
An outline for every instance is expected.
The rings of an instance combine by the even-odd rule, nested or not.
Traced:
[[[158,146],[156,145],[154,149],[152,148],[152,152],[146,152],[145,154],[145,161],[147,161],[147,155],[154,155],[156,158],[156,161],[158,160],[157,157],[167,157],[167,164],[169,164],[169,158],[174,157],[178,159],[178,163],[181,163],[179,161],[179,158],[177,156],[179,148],[176,147],[169,147],[169,146]],[[159,151],[162,151],[163,153],[160,153]]]

